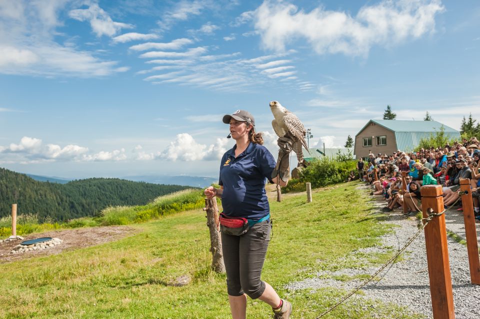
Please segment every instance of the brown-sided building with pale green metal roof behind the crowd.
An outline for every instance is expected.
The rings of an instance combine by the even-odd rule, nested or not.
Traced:
[[[421,139],[429,138],[443,127],[449,139],[460,141],[460,132],[437,121],[369,120],[355,135],[354,154],[390,155],[396,150],[412,151]]]

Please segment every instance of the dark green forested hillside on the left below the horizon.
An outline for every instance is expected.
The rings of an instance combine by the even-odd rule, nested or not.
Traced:
[[[93,216],[108,206],[143,205],[154,198],[182,189],[178,185],[157,185],[116,178],[90,178],[66,184],[38,182],[25,174],[0,168],[0,217],[7,216],[11,204],[19,214],[37,214],[65,221]]]

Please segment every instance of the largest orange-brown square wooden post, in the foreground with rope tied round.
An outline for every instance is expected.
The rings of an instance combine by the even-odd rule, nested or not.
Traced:
[[[422,186],[420,192],[423,218],[427,218],[430,213],[443,212],[444,206],[440,185]],[[454,319],[445,215],[433,217],[423,231],[425,232],[433,319]]]

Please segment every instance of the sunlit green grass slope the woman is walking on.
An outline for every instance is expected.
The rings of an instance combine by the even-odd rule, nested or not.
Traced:
[[[377,243],[388,231],[355,184],[271,202],[273,238],[262,280],[293,304],[294,318],[315,318],[346,292],[284,289],[319,270],[361,267],[351,252]],[[137,224],[141,232],[107,245],[1,265],[0,318],[230,318],[225,275],[210,271],[205,213],[185,211]],[[383,262],[390,254],[372,256]],[[347,262],[345,262],[345,258]],[[341,262],[340,262],[341,260]],[[180,276],[190,284],[174,287]],[[248,300],[247,318],[268,318],[271,309]],[[375,303],[346,302],[323,318],[415,318]]]

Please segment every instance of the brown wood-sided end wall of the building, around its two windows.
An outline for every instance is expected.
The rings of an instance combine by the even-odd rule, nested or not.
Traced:
[[[376,137],[383,135],[386,136],[386,145],[376,146]],[[374,136],[374,138],[371,139],[371,146],[363,147],[363,138],[372,136]],[[355,137],[354,154],[356,155],[356,158],[367,157],[368,150],[371,150],[375,156],[378,153],[381,153],[382,155],[383,153],[387,155],[393,154],[393,152],[397,150],[395,134],[392,131],[387,130],[386,128],[373,122],[368,123],[365,129],[360,131]]]

